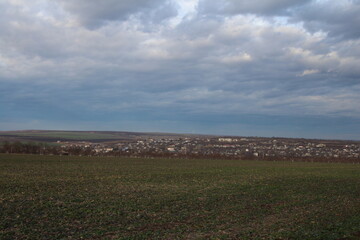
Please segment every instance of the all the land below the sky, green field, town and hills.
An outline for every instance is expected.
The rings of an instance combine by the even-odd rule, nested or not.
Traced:
[[[359,239],[359,142],[63,131],[1,137],[0,239]],[[181,144],[189,152],[181,154]],[[299,156],[288,157],[291,149]]]

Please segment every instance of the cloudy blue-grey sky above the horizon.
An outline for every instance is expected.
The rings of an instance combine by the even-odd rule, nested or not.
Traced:
[[[360,0],[0,0],[0,130],[360,140]]]

